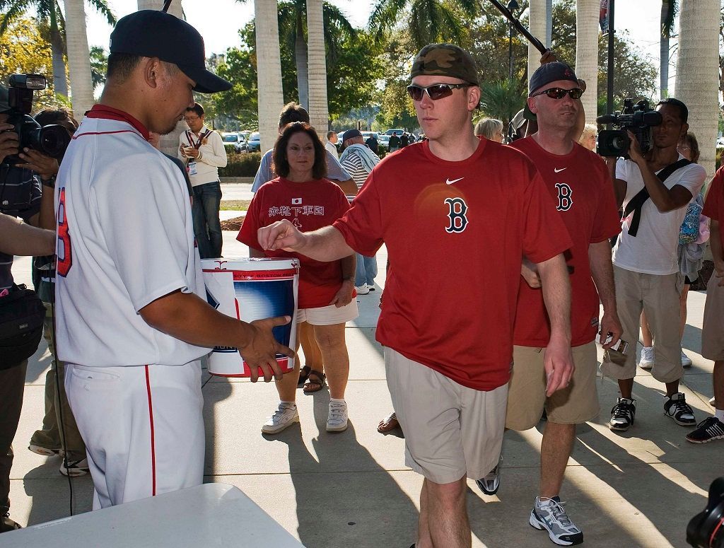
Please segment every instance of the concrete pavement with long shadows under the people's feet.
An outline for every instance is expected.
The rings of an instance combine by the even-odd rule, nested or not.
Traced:
[[[224,233],[224,256],[246,252],[235,233]],[[382,348],[374,340],[386,259],[382,248],[377,255],[379,287],[358,297],[361,316],[348,324],[348,431],[324,431],[329,402],[325,388],[311,396],[298,392],[300,425],[263,436],[261,424],[277,402],[274,386],[203,377],[206,481],[238,486],[308,547],[406,548],[415,540],[421,477],[405,467],[404,440],[376,432],[376,423],[392,409]],[[13,271],[19,282],[30,283],[28,259],[19,259]],[[712,413],[707,402],[712,395],[712,363],[699,355],[703,305],[704,294],[691,292],[684,337],[694,366],[686,371],[683,392],[699,421]],[[28,366],[14,443],[11,515],[22,525],[70,512],[68,480],[58,472],[59,459],[26,449],[41,426],[48,365],[43,342]],[[561,493],[569,502],[569,515],[584,531],[584,546],[686,546],[686,524],[703,509],[712,479],[724,474],[724,442],[686,442],[689,429],[662,413],[662,388],[647,371],[639,370],[636,424],[615,434],[606,422],[617,388],[610,379],[598,382],[602,413],[597,421],[578,427]],[[555,546],[547,534],[528,525],[542,426],[506,434],[497,496],[481,494],[468,481],[474,547]],[[73,479],[72,486],[75,512],[90,510],[90,478]]]

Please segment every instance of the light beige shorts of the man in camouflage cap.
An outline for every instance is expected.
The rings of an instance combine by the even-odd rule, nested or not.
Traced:
[[[436,484],[486,476],[500,458],[508,385],[463,387],[384,349],[387,387],[405,432],[405,464]]]

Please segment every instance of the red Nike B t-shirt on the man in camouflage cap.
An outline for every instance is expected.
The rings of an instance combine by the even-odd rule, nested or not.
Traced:
[[[510,378],[523,254],[571,245],[531,161],[484,139],[464,161],[426,142],[387,156],[334,227],[363,255],[387,245],[376,339],[479,390]]]

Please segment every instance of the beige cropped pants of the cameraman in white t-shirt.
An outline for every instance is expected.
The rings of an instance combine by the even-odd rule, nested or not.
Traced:
[[[639,340],[641,310],[646,312],[654,335],[654,367],[651,374],[659,382],[674,382],[683,376],[679,298],[683,289],[681,274],[641,274],[613,266],[616,284],[616,308],[623,327],[622,339],[628,341],[626,360],[614,363],[608,352],[601,368],[613,379],[636,376],[636,341]]]

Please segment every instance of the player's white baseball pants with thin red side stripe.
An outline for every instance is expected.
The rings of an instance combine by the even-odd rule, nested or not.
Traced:
[[[203,483],[200,361],[67,363],[65,389],[88,452],[93,510]]]

